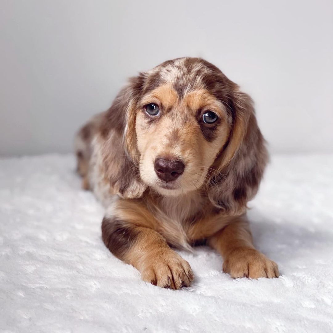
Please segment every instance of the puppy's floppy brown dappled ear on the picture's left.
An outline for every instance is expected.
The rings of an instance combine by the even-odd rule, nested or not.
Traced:
[[[146,189],[140,178],[135,133],[136,108],[144,81],[141,73],[119,92],[105,114],[98,138],[105,180],[122,198],[139,198]]]

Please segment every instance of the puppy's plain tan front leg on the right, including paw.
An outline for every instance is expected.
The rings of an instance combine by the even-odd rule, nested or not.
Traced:
[[[223,271],[233,278],[279,276],[277,264],[255,249],[248,222],[242,217],[209,237],[208,244],[221,253]]]

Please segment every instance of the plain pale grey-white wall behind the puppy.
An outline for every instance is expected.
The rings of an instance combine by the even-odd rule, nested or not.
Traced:
[[[0,154],[69,152],[128,76],[200,56],[275,152],[333,151],[333,1],[1,0]]]

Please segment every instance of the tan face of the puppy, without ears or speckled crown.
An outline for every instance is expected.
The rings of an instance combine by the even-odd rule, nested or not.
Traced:
[[[188,81],[180,94],[174,79],[172,73],[166,83],[144,94],[136,110],[140,175],[163,195],[199,189],[231,127],[225,106],[207,89]]]

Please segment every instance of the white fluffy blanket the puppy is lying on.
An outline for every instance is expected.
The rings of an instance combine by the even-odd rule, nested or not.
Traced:
[[[161,289],[101,240],[72,156],[0,160],[0,332],[332,332],[333,156],[275,156],[249,211],[278,279],[233,280],[206,247]]]

